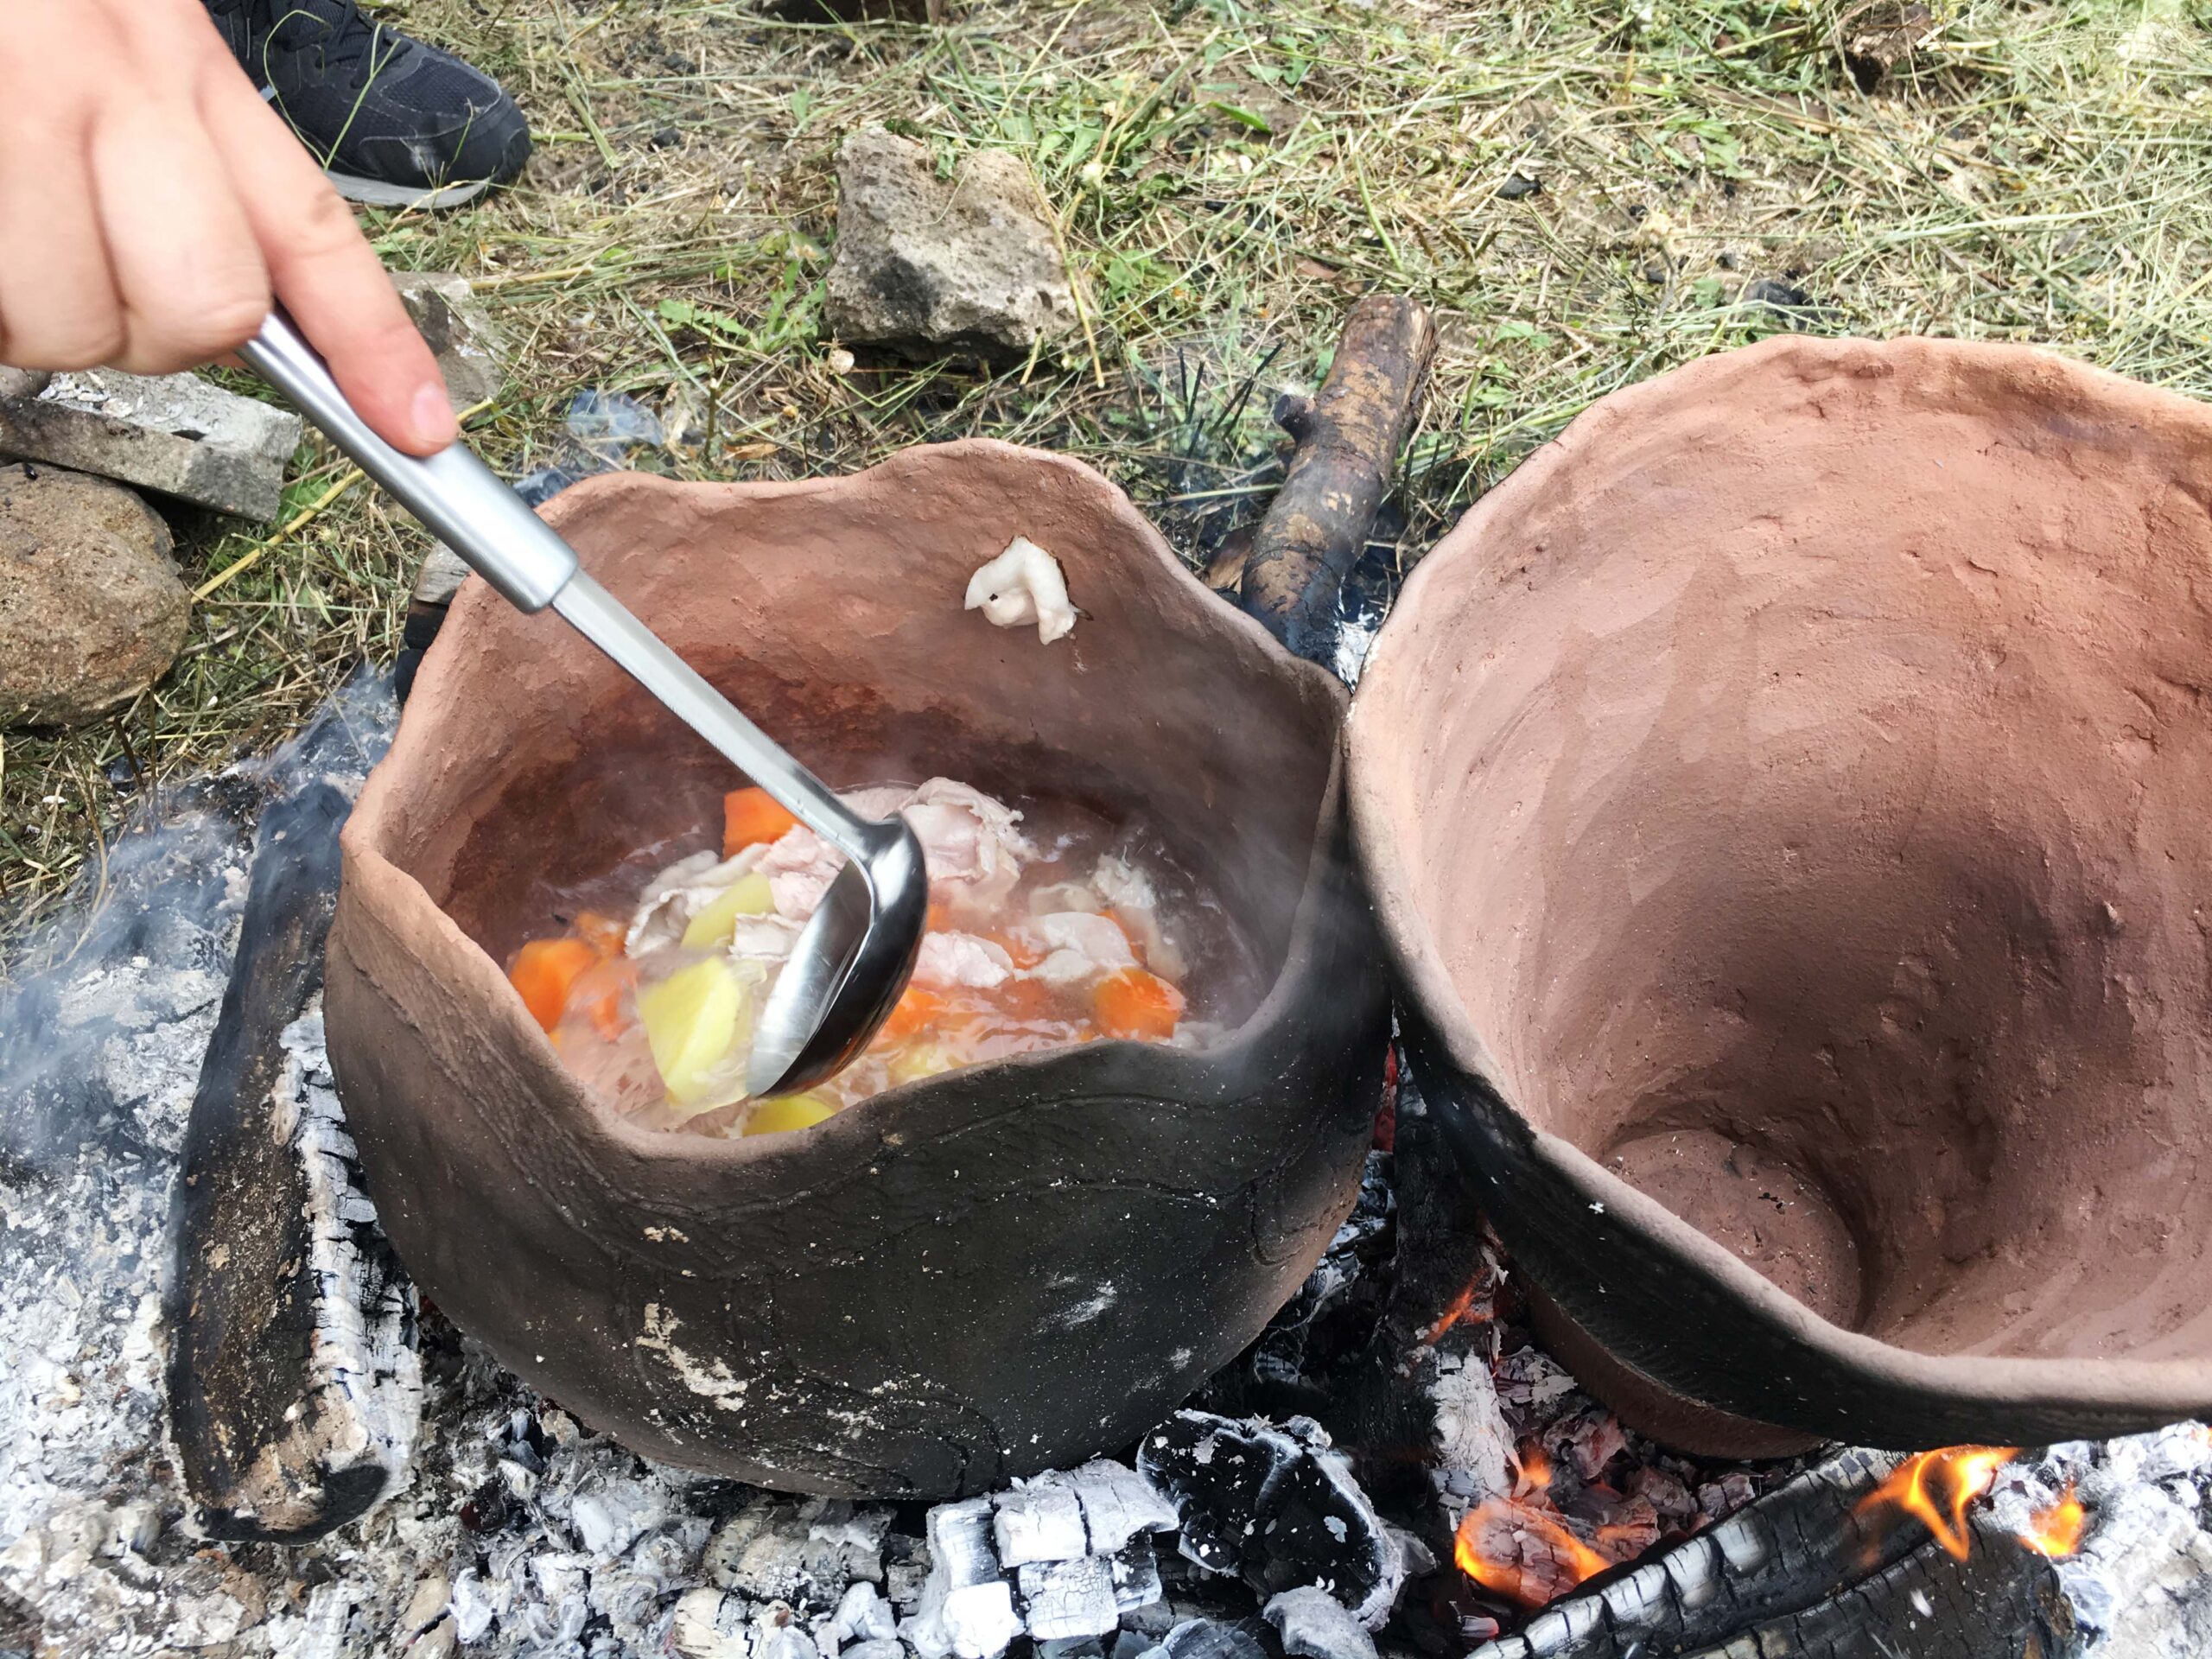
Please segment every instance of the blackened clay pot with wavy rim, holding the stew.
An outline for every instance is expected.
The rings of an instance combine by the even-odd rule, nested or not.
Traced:
[[[551,615],[471,582],[345,830],[330,1053],[422,1292],[637,1451],[947,1498],[1124,1444],[1237,1354],[1358,1188],[1387,1006],[1345,878],[1343,690],[1097,473],[998,442],[854,478],[595,478],[546,518],[830,783],[931,772],[1141,814],[1256,947],[1206,1053],[1102,1042],[796,1135],[613,1117],[502,962],[551,889],[708,845],[732,774]],[[962,611],[1015,533],[1084,619]]]

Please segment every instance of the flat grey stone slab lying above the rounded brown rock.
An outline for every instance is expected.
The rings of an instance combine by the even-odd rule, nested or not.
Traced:
[[[197,374],[55,374],[33,398],[0,398],[0,456],[97,473],[265,524],[283,507],[296,414]]]

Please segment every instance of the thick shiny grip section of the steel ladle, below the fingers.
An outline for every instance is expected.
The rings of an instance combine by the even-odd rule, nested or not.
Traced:
[[[239,356],[518,611],[544,611],[568,586],[575,551],[491,467],[458,442],[429,460],[387,445],[281,310]]]

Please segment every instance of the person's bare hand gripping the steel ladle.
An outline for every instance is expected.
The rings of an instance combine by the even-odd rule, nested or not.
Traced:
[[[272,294],[387,442],[453,440],[392,279],[199,0],[0,0],[0,363],[170,374]]]

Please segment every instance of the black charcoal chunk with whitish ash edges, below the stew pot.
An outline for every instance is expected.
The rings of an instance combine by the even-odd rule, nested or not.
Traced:
[[[1146,1436],[1137,1467],[1168,1493],[1199,1566],[1237,1573],[1259,1595],[1329,1590],[1371,1628],[1389,1617],[1405,1564],[1318,1422],[1177,1411]]]

